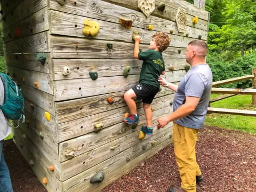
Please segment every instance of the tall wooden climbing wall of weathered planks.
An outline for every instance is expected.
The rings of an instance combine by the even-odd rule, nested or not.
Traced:
[[[164,11],[157,9],[159,3],[165,3]],[[175,22],[179,8],[186,11],[186,33],[179,33]],[[172,111],[174,92],[169,89],[163,87],[152,103],[153,136],[138,139],[146,123],[141,101],[136,100],[137,128],[123,123],[129,112],[123,95],[138,82],[142,65],[133,59],[132,31],[142,36],[142,50],[156,31],[170,34],[163,53],[165,78],[178,84],[186,74],[188,43],[199,35],[207,39],[206,11],[179,0],[155,1],[149,17],[135,0],[2,0],[0,13],[6,68],[26,101],[26,123],[13,129],[13,140],[38,179],[47,178],[43,185],[48,191],[100,191],[171,143],[172,123],[161,130],[156,126],[159,117]],[[193,24],[195,16],[198,23]],[[120,25],[120,17],[133,20],[132,28]],[[82,33],[86,19],[100,25],[94,38]],[[37,60],[42,52],[44,63]],[[125,78],[126,66],[131,70]],[[63,75],[65,67],[68,75]],[[90,71],[97,71],[98,78],[92,80]],[[115,102],[110,105],[107,97]],[[100,132],[94,132],[97,123],[103,123]],[[105,179],[91,184],[97,172]]]

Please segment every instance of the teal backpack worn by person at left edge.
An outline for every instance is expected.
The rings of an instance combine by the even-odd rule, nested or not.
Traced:
[[[21,90],[9,75],[0,73],[0,77],[4,84],[4,104],[0,109],[7,119],[22,119],[24,123],[24,98]]]

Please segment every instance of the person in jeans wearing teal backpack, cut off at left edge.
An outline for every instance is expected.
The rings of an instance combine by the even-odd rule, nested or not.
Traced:
[[[4,103],[4,84],[0,78],[0,105]],[[8,119],[0,109],[0,192],[12,192],[12,183],[8,167],[4,161],[3,143],[4,138],[11,133]]]

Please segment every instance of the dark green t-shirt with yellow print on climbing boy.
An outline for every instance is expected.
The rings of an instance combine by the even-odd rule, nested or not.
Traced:
[[[143,60],[139,82],[159,87],[158,77],[165,70],[162,52],[151,49],[140,51],[139,60]]]

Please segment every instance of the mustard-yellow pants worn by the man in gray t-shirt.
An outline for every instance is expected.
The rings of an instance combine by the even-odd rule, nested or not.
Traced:
[[[202,174],[196,162],[198,130],[173,124],[173,146],[180,172],[181,188],[187,192],[196,192],[196,175]]]

